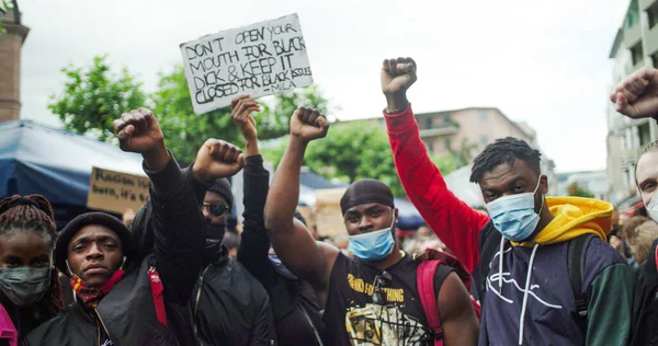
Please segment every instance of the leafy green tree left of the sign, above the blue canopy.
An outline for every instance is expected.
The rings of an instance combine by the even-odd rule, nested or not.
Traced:
[[[93,58],[91,66],[65,67],[65,90],[50,96],[48,108],[59,116],[68,130],[92,132],[100,140],[114,139],[112,127],[121,114],[145,105],[146,95],[138,82],[124,68],[112,73],[106,56]]]

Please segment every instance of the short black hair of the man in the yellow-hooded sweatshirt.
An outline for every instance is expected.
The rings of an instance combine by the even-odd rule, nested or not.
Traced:
[[[541,174],[542,153],[532,149],[524,140],[506,137],[488,145],[475,158],[470,170],[470,182],[479,183],[485,173],[504,163],[513,165],[517,159],[525,161],[537,175]]]

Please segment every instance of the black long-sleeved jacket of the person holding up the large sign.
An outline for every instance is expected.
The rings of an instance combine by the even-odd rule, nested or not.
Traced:
[[[263,285],[276,324],[280,345],[318,345],[325,324],[314,288],[305,280],[282,274],[269,258],[270,238],[265,231],[264,208],[270,173],[261,155],[248,157],[243,171],[245,228],[238,260]]]

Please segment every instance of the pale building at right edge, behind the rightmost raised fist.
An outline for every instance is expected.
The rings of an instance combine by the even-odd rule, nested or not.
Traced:
[[[629,2],[609,57],[614,61],[610,91],[642,67],[658,67],[658,0]],[[643,148],[658,139],[658,127],[653,119],[634,120],[616,113],[610,102],[606,113],[608,195],[617,204],[637,194],[635,162]]]

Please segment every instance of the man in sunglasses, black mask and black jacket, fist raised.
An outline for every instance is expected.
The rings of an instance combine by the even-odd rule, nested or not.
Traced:
[[[276,341],[270,298],[262,285],[234,257],[223,243],[234,204],[227,177],[245,165],[241,150],[217,139],[208,139],[198,150],[192,169],[183,172],[203,212],[203,264],[194,273],[196,285],[189,301],[194,341],[185,345],[273,345]],[[236,168],[213,178],[195,168]],[[150,206],[133,222],[132,233],[141,256],[151,252],[155,222]]]

